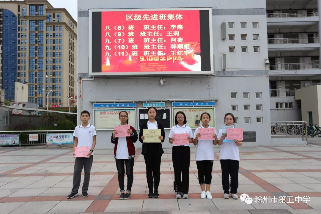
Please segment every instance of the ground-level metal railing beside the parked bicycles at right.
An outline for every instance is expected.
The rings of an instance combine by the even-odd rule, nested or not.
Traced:
[[[271,122],[271,136],[302,136],[302,140],[307,140],[307,122]],[[304,136],[305,135],[305,136]]]

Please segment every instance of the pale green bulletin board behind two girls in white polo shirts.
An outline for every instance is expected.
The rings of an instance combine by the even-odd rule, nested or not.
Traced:
[[[177,112],[182,111],[186,115],[186,120],[189,127],[192,129],[202,125],[201,114],[207,112],[211,116],[209,125],[215,127],[215,107],[190,107],[190,108],[173,108],[173,126],[175,125],[175,115]]]

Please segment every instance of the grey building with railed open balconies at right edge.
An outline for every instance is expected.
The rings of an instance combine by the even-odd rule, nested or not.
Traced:
[[[266,0],[271,121],[319,121],[317,112],[302,112],[312,103],[295,90],[320,83],[320,3]]]

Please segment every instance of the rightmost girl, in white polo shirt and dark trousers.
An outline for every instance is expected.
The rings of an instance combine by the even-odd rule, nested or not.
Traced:
[[[224,116],[226,125],[233,125],[235,118],[233,114],[227,113]],[[235,128],[235,127],[234,127]],[[236,194],[239,186],[239,146],[242,146],[243,141],[234,140],[232,142],[223,142],[225,136],[222,136],[222,129],[220,129],[218,136],[218,145],[222,145],[220,149],[220,162],[222,169],[222,186],[224,190],[224,198],[228,199],[230,194],[230,180],[231,176],[231,197],[238,199]]]

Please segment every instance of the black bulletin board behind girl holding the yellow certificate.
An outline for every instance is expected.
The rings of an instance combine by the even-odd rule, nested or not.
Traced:
[[[148,108],[138,108],[138,114],[137,114],[138,129],[140,129],[141,124],[148,119],[147,109]],[[170,129],[172,127],[170,108],[156,108],[156,109],[157,109],[156,120],[162,122],[164,129]]]

